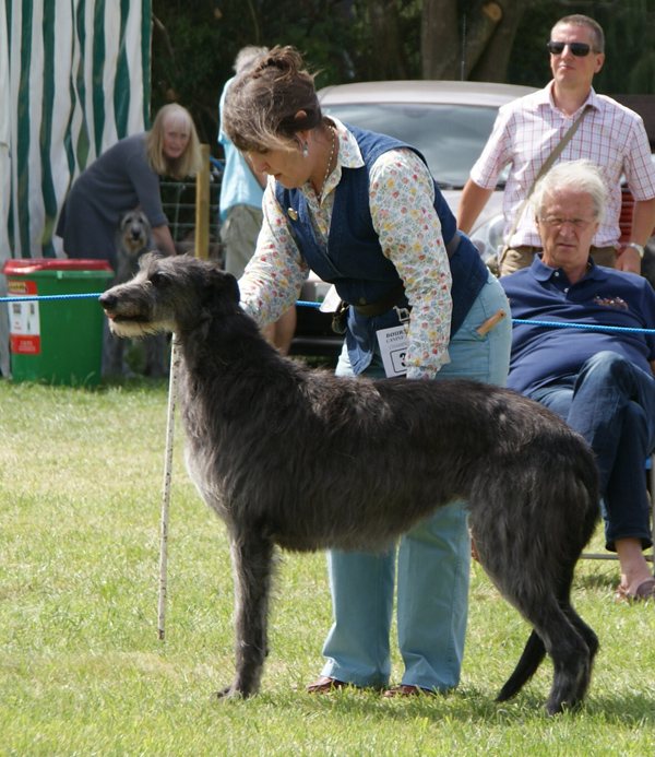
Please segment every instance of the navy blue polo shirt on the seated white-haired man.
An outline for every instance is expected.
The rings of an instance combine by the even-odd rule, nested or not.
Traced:
[[[600,268],[590,258],[591,270],[571,284],[562,269],[553,269],[535,256],[531,268],[499,281],[510,299],[512,318],[655,328],[655,293],[633,273]],[[652,375],[655,335],[514,324],[510,376],[507,386],[523,394],[567,376],[605,350],[616,352]]]

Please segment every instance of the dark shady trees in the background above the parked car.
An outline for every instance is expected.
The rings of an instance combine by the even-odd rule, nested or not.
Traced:
[[[202,141],[216,145],[218,97],[246,45],[296,46],[318,86],[386,79],[543,86],[550,28],[572,13],[605,29],[599,92],[655,93],[655,0],[153,0],[153,111],[180,102]]]

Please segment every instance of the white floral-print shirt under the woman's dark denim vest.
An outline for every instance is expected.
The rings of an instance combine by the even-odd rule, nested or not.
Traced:
[[[321,197],[310,182],[300,187],[319,244],[327,245],[334,189],[342,168],[364,166],[359,146],[341,121],[337,165]],[[406,357],[409,378],[433,378],[448,356],[452,300],[448,255],[441,222],[434,211],[434,185],[425,163],[410,150],[383,153],[370,170],[369,206],[383,255],[395,265],[413,306]],[[275,198],[269,177],[263,200],[264,221],[257,249],[239,281],[241,307],[258,322],[267,323],[295,301],[309,274]]]

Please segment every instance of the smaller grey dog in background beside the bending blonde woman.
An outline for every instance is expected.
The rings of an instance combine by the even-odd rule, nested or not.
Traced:
[[[154,248],[152,228],[147,215],[139,208],[123,213],[116,227],[116,279],[114,284],[124,284],[139,271],[139,261]],[[104,374],[122,376],[130,374],[123,364],[126,342],[111,333],[106,334]],[[154,378],[168,375],[166,365],[167,336],[159,333],[145,340],[143,374]]]

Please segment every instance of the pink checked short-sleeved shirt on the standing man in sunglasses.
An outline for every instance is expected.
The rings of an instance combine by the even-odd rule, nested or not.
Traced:
[[[598,165],[607,196],[605,218],[593,244],[597,247],[617,246],[621,236],[621,176],[626,176],[635,200],[655,198],[655,166],[643,121],[633,110],[610,97],[597,95],[593,88],[582,108],[567,117],[555,107],[552,83],[500,108],[493,131],[471,171],[471,178],[484,189],[493,189],[502,168],[511,164],[503,196],[504,240],[511,247],[540,247],[529,205],[525,208],[512,239],[508,236],[539,168],[588,103],[593,110],[582,119],[558,162],[584,157]]]

